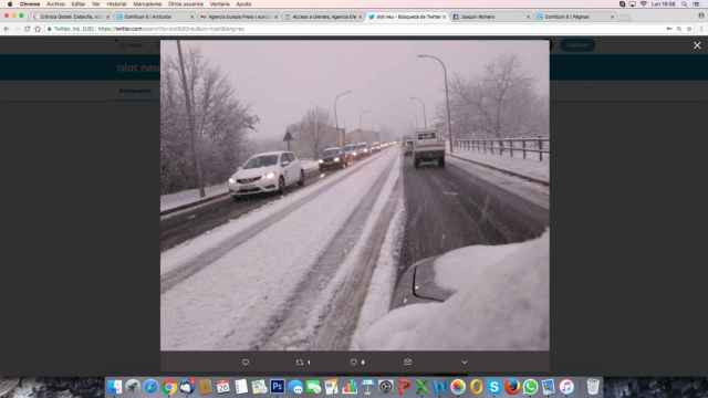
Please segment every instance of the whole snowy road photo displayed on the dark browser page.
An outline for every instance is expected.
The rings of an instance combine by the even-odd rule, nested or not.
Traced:
[[[549,42],[160,50],[163,352],[550,349]]]

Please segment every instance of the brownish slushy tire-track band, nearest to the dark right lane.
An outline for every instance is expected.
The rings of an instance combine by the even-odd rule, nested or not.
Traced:
[[[290,305],[271,320],[272,328],[266,332],[254,349],[348,349],[393,216],[393,205],[402,192],[396,158],[392,164],[394,167],[376,179],[365,199],[330,242],[289,300]],[[393,187],[388,189],[392,195],[382,198],[382,193],[387,193],[384,188],[392,174],[395,174]],[[376,211],[377,207],[379,211]],[[366,241],[362,242],[364,238]],[[352,255],[355,258],[347,258]],[[347,264],[350,261],[354,262],[353,266]]]

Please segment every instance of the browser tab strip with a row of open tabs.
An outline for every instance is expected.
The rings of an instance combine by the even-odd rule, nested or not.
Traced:
[[[494,24],[494,23],[708,23],[708,10],[230,10],[230,9],[0,9],[0,22],[23,21],[112,21],[112,22],[291,22],[367,24]]]

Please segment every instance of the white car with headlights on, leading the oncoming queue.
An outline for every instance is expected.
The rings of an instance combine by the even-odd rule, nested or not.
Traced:
[[[303,186],[305,172],[291,151],[272,151],[251,156],[229,178],[229,192],[236,198],[262,192],[282,192],[292,185]]]

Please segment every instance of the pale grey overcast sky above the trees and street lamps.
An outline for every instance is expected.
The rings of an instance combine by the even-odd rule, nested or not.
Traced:
[[[337,93],[352,94],[339,101],[340,126],[388,126],[398,133],[423,124],[420,105],[425,101],[428,123],[436,104],[445,100],[441,67],[420,53],[440,57],[449,77],[480,75],[485,65],[501,54],[519,56],[537,90],[549,92],[549,44],[545,41],[409,41],[409,40],[217,40],[189,41],[199,46],[210,62],[230,76],[238,97],[250,104],[260,117],[258,137],[282,137],[285,127],[300,121],[308,108],[326,108],[333,117]],[[163,42],[163,53],[176,55],[175,42]]]

